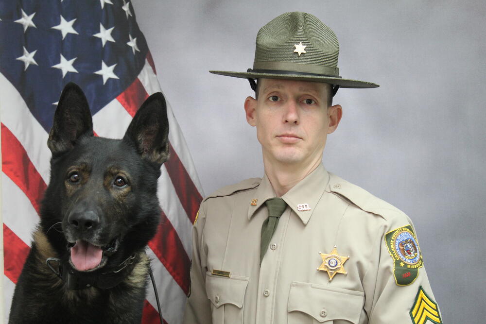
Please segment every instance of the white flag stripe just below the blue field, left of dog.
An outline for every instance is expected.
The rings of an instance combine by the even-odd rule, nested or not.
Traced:
[[[55,106],[52,105],[52,109]],[[48,134],[32,115],[17,89],[0,73],[1,122],[17,137],[37,172],[49,183],[51,151]]]

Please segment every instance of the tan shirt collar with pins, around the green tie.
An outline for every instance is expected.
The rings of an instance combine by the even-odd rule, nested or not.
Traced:
[[[306,225],[314,212],[315,206],[321,199],[329,182],[329,173],[320,164],[314,171],[297,183],[292,189],[282,196],[287,205],[294,210],[295,214]],[[252,202],[248,208],[248,219],[260,208],[263,203],[275,197],[275,192],[268,180],[263,176],[260,186],[255,191]]]

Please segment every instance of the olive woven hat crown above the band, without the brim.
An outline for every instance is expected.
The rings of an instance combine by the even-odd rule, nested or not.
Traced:
[[[295,52],[302,43],[305,52]],[[287,12],[260,28],[257,34],[254,69],[270,62],[322,67],[328,75],[338,76],[339,43],[334,32],[317,17],[302,12]],[[278,69],[278,68],[277,68]]]

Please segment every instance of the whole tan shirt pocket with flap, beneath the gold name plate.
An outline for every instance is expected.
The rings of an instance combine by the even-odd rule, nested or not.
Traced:
[[[206,273],[206,294],[211,301],[213,324],[243,323],[243,301],[248,277],[223,277]]]

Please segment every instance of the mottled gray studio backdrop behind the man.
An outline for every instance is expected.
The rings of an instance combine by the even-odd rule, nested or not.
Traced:
[[[206,195],[263,174],[248,82],[208,70],[250,68],[283,12],[329,25],[340,74],[381,86],[338,91],[326,168],[412,218],[445,323],[486,323],[484,0],[132,2]]]

